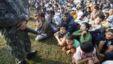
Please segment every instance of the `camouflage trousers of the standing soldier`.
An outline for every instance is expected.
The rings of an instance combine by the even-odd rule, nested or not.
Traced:
[[[16,28],[4,29],[2,33],[5,36],[11,54],[19,61],[25,60],[27,54],[31,51],[28,33]]]

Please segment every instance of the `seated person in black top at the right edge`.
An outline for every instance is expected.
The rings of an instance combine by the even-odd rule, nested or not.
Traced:
[[[105,39],[100,41],[98,48],[104,60],[113,60],[113,29],[106,30]]]

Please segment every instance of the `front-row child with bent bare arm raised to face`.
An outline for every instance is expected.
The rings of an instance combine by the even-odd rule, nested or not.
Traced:
[[[63,46],[66,41],[66,27],[60,27],[60,30],[54,34],[55,38],[58,41],[58,45]]]

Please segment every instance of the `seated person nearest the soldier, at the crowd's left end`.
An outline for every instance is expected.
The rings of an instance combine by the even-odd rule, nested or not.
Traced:
[[[47,35],[47,23],[45,22],[45,14],[44,12],[41,12],[38,14],[37,20],[36,20],[36,31],[39,33],[35,40],[42,40],[48,37]]]

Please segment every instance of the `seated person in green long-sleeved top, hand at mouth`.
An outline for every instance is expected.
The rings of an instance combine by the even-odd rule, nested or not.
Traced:
[[[88,31],[90,28],[90,25],[88,23],[82,23],[80,30],[73,32],[73,36],[79,37],[80,43],[83,42],[92,42],[92,35]]]

